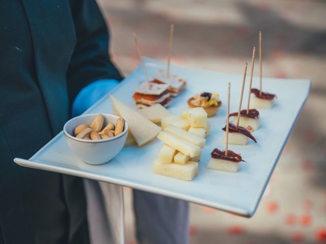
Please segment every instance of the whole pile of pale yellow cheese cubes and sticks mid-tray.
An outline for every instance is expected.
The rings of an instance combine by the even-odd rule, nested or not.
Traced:
[[[186,114],[186,115],[185,115]],[[207,113],[203,108],[191,108],[182,117],[162,118],[157,138],[166,144],[159,149],[154,173],[182,180],[192,180],[198,173],[201,148],[206,142]]]

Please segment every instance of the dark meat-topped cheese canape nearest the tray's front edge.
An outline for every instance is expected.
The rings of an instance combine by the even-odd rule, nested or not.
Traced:
[[[228,172],[237,172],[240,168],[240,162],[244,161],[240,154],[234,153],[234,151],[228,150],[227,156],[225,150],[219,150],[215,148],[211,152],[211,159],[207,165],[209,169],[222,170]]]

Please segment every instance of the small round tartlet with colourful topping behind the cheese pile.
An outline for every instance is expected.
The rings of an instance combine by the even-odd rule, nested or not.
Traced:
[[[215,102],[212,102],[213,99]],[[195,97],[189,98],[187,103],[189,108],[202,107],[205,109],[208,117],[214,116],[222,106],[218,94],[207,92],[199,93]]]

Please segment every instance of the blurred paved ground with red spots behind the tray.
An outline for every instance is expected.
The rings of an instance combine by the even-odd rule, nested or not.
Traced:
[[[309,78],[312,88],[258,210],[246,219],[191,204],[191,242],[326,243],[326,1],[98,0],[111,27],[111,53],[124,75],[143,55],[172,64],[242,74],[263,33],[263,76]],[[258,74],[256,63],[256,71]],[[281,118],[280,118],[281,119]],[[125,188],[127,244],[134,236]]]

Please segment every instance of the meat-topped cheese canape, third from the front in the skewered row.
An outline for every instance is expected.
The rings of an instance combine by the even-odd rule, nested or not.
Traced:
[[[231,113],[231,116],[233,117],[232,123],[236,124],[238,113]],[[253,131],[256,131],[260,127],[259,111],[257,109],[241,110],[239,126],[243,128],[251,127]]]

